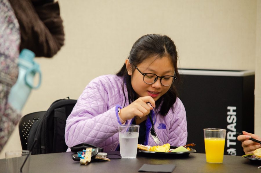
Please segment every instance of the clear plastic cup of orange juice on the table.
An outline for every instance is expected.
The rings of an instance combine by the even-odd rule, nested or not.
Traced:
[[[204,129],[206,162],[223,163],[226,129]]]

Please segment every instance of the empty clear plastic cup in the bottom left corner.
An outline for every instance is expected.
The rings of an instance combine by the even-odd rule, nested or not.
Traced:
[[[6,152],[6,167],[8,173],[20,173],[20,169],[30,152],[28,150],[8,151]],[[31,155],[31,154],[30,154]],[[29,172],[30,155],[23,165],[22,172]]]

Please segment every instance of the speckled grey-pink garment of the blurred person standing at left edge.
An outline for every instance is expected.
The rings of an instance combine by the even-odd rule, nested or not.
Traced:
[[[8,0],[0,0],[0,151],[21,115],[7,104],[18,77],[17,59],[21,42],[19,24]]]

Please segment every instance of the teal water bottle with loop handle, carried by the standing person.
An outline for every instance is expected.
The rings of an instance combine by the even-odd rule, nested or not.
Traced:
[[[32,89],[37,89],[41,85],[40,66],[34,62],[35,53],[28,49],[23,49],[18,59],[19,73],[14,86],[8,96],[9,104],[18,111],[23,109]],[[39,73],[39,82],[34,86],[34,77]]]

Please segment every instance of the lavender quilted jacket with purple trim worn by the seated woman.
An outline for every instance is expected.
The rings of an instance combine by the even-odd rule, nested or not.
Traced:
[[[124,106],[123,80],[116,75],[103,75],[92,80],[80,95],[72,113],[66,120],[65,141],[68,147],[80,143],[103,147],[105,151],[115,150],[119,145],[118,126],[121,125],[118,107]],[[128,94],[124,86],[126,105]],[[166,116],[153,112],[155,131],[161,144],[185,145],[187,141],[187,122],[184,106],[177,98],[174,109]],[[131,124],[133,120],[126,121]],[[156,145],[146,122],[146,145]]]

